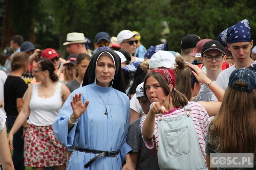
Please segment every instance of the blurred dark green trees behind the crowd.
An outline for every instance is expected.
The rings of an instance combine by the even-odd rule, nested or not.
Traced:
[[[19,34],[35,48],[54,48],[66,58],[62,43],[67,33],[84,33],[94,50],[98,32],[117,36],[128,29],[141,34],[146,49],[164,38],[169,50],[180,52],[186,34],[217,39],[220,32],[243,19],[251,22],[251,34],[256,37],[252,0],[0,0],[1,50]]]

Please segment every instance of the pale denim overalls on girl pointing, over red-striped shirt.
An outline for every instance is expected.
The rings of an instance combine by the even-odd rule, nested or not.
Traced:
[[[189,103],[187,113],[175,118],[158,118],[158,165],[161,169],[207,169],[199,146]]]

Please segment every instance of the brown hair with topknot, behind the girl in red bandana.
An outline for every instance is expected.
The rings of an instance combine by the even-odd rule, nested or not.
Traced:
[[[175,88],[184,94],[188,100],[190,100],[192,98],[191,79],[193,77],[193,70],[188,67],[181,57],[177,57],[175,62]]]

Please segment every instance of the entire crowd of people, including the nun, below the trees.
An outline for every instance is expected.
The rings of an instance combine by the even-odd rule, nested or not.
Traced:
[[[1,53],[1,168],[214,169],[213,153],[253,153],[256,166],[250,29],[244,19],[216,40],[187,34],[180,52],[146,50],[130,30],[99,32],[90,50],[72,32],[67,57],[13,36]]]

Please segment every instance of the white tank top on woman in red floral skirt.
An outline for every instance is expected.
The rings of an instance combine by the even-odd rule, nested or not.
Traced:
[[[58,82],[56,91],[52,97],[40,98],[38,96],[38,84],[33,84],[31,99],[29,102],[30,116],[27,122],[36,126],[50,126],[62,107],[61,83]]]

